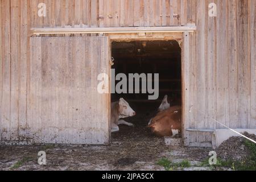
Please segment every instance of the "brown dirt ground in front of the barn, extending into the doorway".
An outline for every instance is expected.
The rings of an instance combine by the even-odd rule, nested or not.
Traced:
[[[192,167],[184,170],[210,169],[199,164],[208,158],[211,148],[166,146],[163,138],[147,129],[147,119],[142,114],[126,119],[135,127],[120,126],[120,131],[112,134],[109,146],[0,145],[0,170],[164,170],[156,164],[161,158],[172,162],[188,160]],[[38,164],[39,151],[46,151],[45,166]]]

